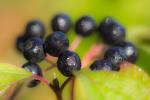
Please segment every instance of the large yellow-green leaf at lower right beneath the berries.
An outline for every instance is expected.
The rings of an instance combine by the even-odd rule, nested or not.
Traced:
[[[150,78],[135,65],[120,72],[76,73],[74,100],[148,100]]]

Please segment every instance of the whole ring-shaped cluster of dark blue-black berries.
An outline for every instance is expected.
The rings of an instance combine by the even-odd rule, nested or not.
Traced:
[[[37,65],[45,59],[46,55],[58,57],[57,68],[67,77],[73,75],[73,71],[81,69],[81,60],[77,53],[68,50],[69,40],[67,33],[72,26],[71,19],[66,14],[58,14],[51,21],[54,31],[44,41],[45,28],[41,21],[32,20],[25,28],[25,32],[17,39],[17,49],[21,51],[28,63],[23,68],[33,74],[42,76],[42,71]],[[91,70],[119,70],[119,65],[123,61],[135,62],[137,59],[137,49],[125,41],[125,29],[111,17],[106,17],[97,28],[96,22],[90,16],[83,16],[75,23],[75,31],[78,35],[86,37],[94,31],[98,31],[102,39],[112,47],[104,55],[104,59],[96,60],[91,66]],[[29,87],[34,87],[40,82],[32,80]]]

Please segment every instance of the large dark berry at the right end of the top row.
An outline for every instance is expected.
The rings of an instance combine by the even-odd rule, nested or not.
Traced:
[[[125,28],[111,17],[106,17],[100,23],[99,32],[104,42],[108,44],[116,44],[125,39]]]

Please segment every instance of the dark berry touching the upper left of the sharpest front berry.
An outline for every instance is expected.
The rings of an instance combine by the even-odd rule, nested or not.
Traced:
[[[44,47],[48,54],[58,57],[68,49],[69,40],[65,33],[54,32],[47,37]]]

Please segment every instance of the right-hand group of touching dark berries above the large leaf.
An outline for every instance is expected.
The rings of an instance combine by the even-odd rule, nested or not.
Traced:
[[[91,70],[119,70],[123,61],[134,63],[137,60],[137,48],[125,41],[125,28],[111,17],[106,17],[98,31],[104,42],[111,47],[105,52],[104,59],[96,60]]]

